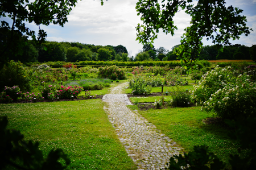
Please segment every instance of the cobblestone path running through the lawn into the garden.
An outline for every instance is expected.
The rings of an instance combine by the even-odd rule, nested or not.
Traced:
[[[127,83],[114,87],[112,94],[106,94],[102,98],[108,102],[104,109],[109,121],[138,169],[164,168],[170,157],[178,155],[183,149],[161,134],[152,123],[148,123],[137,110],[131,111],[126,107],[131,103],[126,94],[121,94],[125,86]]]

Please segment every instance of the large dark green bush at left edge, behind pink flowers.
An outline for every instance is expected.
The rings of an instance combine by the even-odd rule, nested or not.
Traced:
[[[5,86],[19,86],[21,90],[31,90],[31,79],[20,62],[10,61],[0,71],[0,89]]]

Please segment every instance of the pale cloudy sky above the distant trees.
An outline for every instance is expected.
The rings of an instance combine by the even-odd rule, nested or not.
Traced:
[[[141,23],[135,5],[138,0],[104,0],[101,6],[100,0],[82,0],[68,16],[68,23],[64,27],[51,24],[41,26],[47,31],[49,41],[56,42],[80,42],[94,45],[119,45],[127,48],[129,53],[135,55],[142,49],[143,45],[136,41],[135,27]],[[241,36],[240,40],[231,43],[251,46],[256,44],[256,0],[226,0],[226,5],[233,5],[243,10],[243,15],[247,17],[247,26],[253,28],[249,36]],[[155,40],[155,48],[164,47],[169,50],[180,42],[180,36],[185,27],[189,26],[190,17],[183,11],[176,14],[174,23],[178,27],[175,35],[166,35],[159,32],[158,39]],[[27,24],[31,30],[37,28],[33,24]],[[212,45],[207,40],[204,45]]]

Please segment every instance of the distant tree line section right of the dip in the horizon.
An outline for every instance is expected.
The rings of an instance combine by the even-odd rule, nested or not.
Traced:
[[[135,55],[135,61],[154,60],[154,61],[171,61],[178,60],[175,45],[171,51],[164,47],[155,49],[154,45],[144,45],[143,50]],[[256,45],[247,47],[246,45],[234,44],[222,47],[221,45],[205,45],[201,48],[200,60],[256,60]]]

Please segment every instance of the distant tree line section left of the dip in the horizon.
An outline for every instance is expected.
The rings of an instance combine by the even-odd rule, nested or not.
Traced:
[[[46,42],[37,45],[31,40],[18,55],[9,56],[10,60],[28,62],[47,61],[129,61],[128,52],[123,45],[93,45],[78,42]]]

